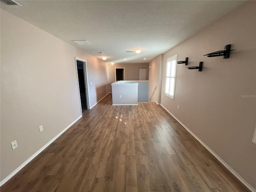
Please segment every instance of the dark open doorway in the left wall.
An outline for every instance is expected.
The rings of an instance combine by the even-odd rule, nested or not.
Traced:
[[[83,113],[85,110],[90,108],[88,102],[86,61],[76,58],[76,70],[80,94],[81,112]]]

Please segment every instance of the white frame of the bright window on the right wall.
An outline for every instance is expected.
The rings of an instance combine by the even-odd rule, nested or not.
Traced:
[[[178,59],[178,54],[172,56],[172,57],[169,57],[167,58],[167,61],[166,61],[166,77],[165,77],[165,86],[164,86],[164,94],[172,99],[174,99],[174,95],[175,95],[175,84],[176,84],[176,73],[177,73],[177,59]],[[172,76],[172,62],[175,61],[175,64],[174,64],[174,76]],[[168,62],[170,62],[170,70],[168,70]],[[169,74],[168,74],[169,72]],[[168,80],[169,79],[169,80]],[[171,94],[171,80],[174,80],[174,83],[173,83],[173,95]],[[169,89],[168,89],[168,92],[166,90],[166,86],[167,86],[167,83],[169,84]]]

